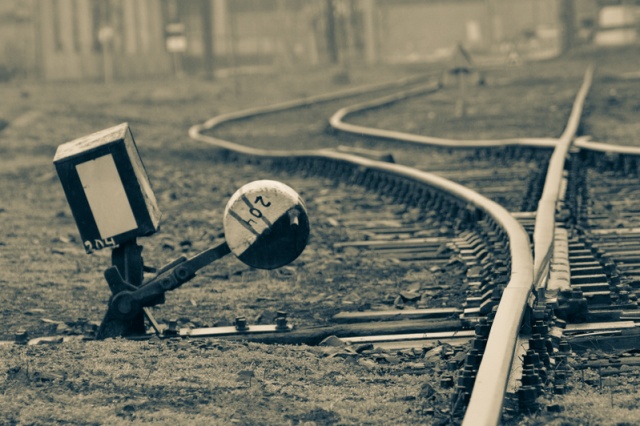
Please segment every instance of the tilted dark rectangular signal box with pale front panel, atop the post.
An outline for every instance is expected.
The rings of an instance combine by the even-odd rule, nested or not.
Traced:
[[[160,210],[127,123],[60,145],[53,163],[87,253],[158,230]]]

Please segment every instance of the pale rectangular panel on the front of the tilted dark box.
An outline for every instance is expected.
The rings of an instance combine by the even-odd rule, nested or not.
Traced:
[[[77,164],[76,170],[102,239],[138,227],[111,154]]]

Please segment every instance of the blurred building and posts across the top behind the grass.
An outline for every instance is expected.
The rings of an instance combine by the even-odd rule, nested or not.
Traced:
[[[640,0],[2,0],[0,80],[535,54],[637,43],[639,22]]]

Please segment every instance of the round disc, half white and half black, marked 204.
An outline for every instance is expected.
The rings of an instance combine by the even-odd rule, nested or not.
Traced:
[[[248,183],[224,211],[225,239],[249,266],[274,269],[295,260],[309,240],[309,218],[297,192],[273,180]]]

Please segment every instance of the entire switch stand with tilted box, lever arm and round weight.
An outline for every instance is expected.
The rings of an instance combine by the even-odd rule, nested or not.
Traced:
[[[112,296],[99,339],[144,336],[145,317],[160,334],[149,308],[164,303],[166,292],[229,253],[251,267],[275,269],[295,260],[309,240],[300,196],[283,183],[255,181],[227,203],[226,241],[191,258],[181,256],[145,281],[144,272],[153,269],[144,265],[136,238],[159,229],[160,211],[129,126],[123,123],[60,145],[54,164],[86,252],[113,250],[112,266],[104,272]],[[249,328],[246,321],[238,321],[238,331]],[[286,316],[275,328],[289,329]]]

